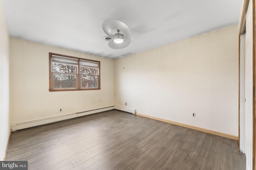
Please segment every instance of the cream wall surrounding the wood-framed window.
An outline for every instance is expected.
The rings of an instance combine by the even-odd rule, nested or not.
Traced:
[[[101,90],[49,92],[49,52],[100,61]],[[114,106],[112,59],[10,38],[10,63],[12,123]]]

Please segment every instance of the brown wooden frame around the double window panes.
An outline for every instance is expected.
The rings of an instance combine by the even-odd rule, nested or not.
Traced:
[[[76,88],[53,88],[54,72],[52,71],[52,55],[71,58],[71,59],[78,59],[77,71],[76,71],[76,73],[71,73],[71,74],[76,75]],[[99,63],[98,75],[97,75],[98,76],[98,82],[97,82],[98,87],[97,88],[81,88],[81,75],[83,75],[83,74],[80,74],[80,60]],[[62,73],[60,73],[60,74],[62,74]],[[65,74],[65,73],[63,73],[63,74]],[[77,90],[100,90],[100,61],[83,59],[83,58],[79,58],[79,57],[72,57],[72,56],[61,55],[61,54],[56,54],[56,53],[49,53],[49,91],[50,92],[61,92],[61,91],[77,91]]]

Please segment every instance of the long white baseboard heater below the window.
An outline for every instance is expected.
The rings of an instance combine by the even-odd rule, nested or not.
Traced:
[[[72,118],[75,118],[75,117],[90,115],[90,114],[94,114],[94,113],[100,113],[102,111],[108,111],[108,110],[113,110],[113,109],[114,109],[114,106],[110,106],[110,107],[104,107],[104,108],[100,108],[100,109],[93,109],[93,110],[81,111],[81,112],[77,112],[77,113],[70,113],[70,114],[67,114],[67,115],[48,117],[48,118],[45,118],[45,119],[38,119],[38,120],[34,120],[34,121],[15,123],[15,124],[11,124],[11,130],[12,130],[12,132],[15,132],[16,130],[20,130],[20,129],[26,129],[26,128],[29,128],[29,127],[45,125],[45,124],[48,124],[48,123],[54,123],[54,122],[57,122],[57,121],[72,119]]]

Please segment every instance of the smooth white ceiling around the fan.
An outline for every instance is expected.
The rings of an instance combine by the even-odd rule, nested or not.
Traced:
[[[11,37],[118,58],[238,23],[242,0],[1,0]],[[132,31],[111,49],[102,23]]]

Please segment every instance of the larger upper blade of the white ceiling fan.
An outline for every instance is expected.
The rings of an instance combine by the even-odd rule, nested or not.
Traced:
[[[116,19],[105,20],[102,23],[102,29],[110,37],[113,37],[113,35],[111,34],[111,31],[113,29],[119,29],[124,33],[124,41],[129,40],[132,36],[130,28],[122,21]]]

